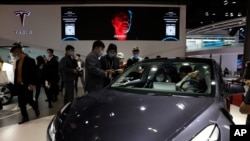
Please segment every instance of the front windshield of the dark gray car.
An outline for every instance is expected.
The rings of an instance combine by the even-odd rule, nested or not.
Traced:
[[[212,96],[212,67],[209,59],[145,60],[126,69],[110,87],[152,95]]]

